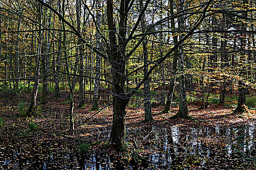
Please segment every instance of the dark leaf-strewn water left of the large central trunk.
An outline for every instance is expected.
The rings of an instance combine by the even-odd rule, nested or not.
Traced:
[[[0,170],[112,170],[113,158],[106,153],[79,154],[76,147],[56,140],[4,143],[0,141]],[[112,160],[111,160],[112,159]]]

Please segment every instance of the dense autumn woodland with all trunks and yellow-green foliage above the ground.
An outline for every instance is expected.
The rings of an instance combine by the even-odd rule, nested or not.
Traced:
[[[110,143],[123,144],[126,107],[178,103],[173,118],[190,119],[188,101],[255,107],[255,0],[0,0],[0,94],[31,96],[27,116],[49,92],[74,93],[79,107],[93,91],[113,105]],[[40,98],[38,98],[40,96]],[[58,100],[58,99],[56,99]]]

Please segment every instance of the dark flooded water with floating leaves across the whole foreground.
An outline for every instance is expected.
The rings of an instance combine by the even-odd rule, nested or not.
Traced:
[[[235,170],[242,163],[250,165],[242,157],[256,156],[254,125],[240,130],[173,126],[168,129],[151,127],[145,131],[137,128],[127,132],[127,141],[129,136],[137,136],[137,144],[151,148],[148,162],[139,166],[121,165],[118,155],[107,154],[102,149],[79,154],[77,144],[70,141],[0,139],[0,170]],[[255,167],[238,169],[254,170]]]

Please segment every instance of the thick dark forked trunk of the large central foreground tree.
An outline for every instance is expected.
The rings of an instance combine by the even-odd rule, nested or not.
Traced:
[[[120,2],[119,38],[116,42],[116,28],[113,17],[113,0],[107,0],[107,25],[109,31],[109,61],[113,68],[113,125],[109,137],[109,143],[122,146],[125,139],[126,106],[129,97],[125,94],[126,82],[126,31],[129,0]]]

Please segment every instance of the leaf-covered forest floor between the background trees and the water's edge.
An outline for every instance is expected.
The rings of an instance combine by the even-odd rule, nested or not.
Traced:
[[[93,143],[92,150],[98,150],[104,147],[105,150],[113,152],[114,155],[122,155],[123,153],[114,151],[107,144],[108,135],[112,124],[112,106],[108,106],[101,112],[91,111],[91,102],[86,101],[84,108],[77,108],[78,94],[75,95],[75,130],[74,133],[69,132],[69,102],[66,102],[68,93],[62,92],[61,98],[53,97],[50,93],[47,98],[47,104],[39,104],[37,113],[32,118],[25,117],[25,108],[29,103],[30,96],[15,95],[2,96],[0,98],[0,138],[7,141],[22,141],[26,138],[46,140],[46,139],[62,139],[67,142],[76,143],[83,142]],[[25,104],[24,104],[25,103]],[[100,101],[99,107],[102,108],[108,104],[107,101]],[[143,108],[127,108],[127,131],[128,152],[131,152],[136,141],[137,147],[140,149],[141,155],[153,152],[155,148],[147,147],[147,137],[152,132],[152,127],[157,127],[167,131],[171,131],[171,127],[237,127],[242,124],[252,125],[256,123],[256,112],[244,114],[235,114],[231,108],[224,105],[210,105],[207,109],[199,109],[200,103],[189,104],[189,114],[192,119],[170,119],[177,113],[178,106],[171,107],[171,112],[162,114],[163,106],[152,108],[152,116],[154,121],[144,121]],[[97,113],[97,114],[96,114]],[[93,117],[91,117],[95,114]],[[91,117],[91,118],[90,118]],[[90,119],[88,119],[90,118]],[[30,129],[30,130],[29,130]],[[143,133],[138,133],[138,129]],[[105,147],[105,146],[108,147]],[[131,154],[123,155],[126,160],[130,159]],[[118,156],[117,156],[118,157]]]

